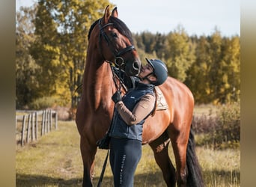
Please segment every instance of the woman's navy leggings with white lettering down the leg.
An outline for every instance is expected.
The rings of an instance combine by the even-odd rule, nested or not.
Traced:
[[[111,138],[109,161],[115,187],[133,186],[133,177],[141,159],[141,141]]]

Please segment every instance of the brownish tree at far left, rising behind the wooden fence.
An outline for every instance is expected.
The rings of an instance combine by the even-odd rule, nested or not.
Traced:
[[[29,51],[35,40],[32,20],[36,10],[35,6],[21,7],[16,12],[16,108],[28,105],[39,96],[37,72],[40,67]]]

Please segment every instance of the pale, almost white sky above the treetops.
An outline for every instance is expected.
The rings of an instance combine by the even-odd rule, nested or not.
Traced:
[[[16,0],[31,6],[36,0]],[[109,0],[132,33],[168,34],[181,26],[189,35],[240,36],[240,0]]]

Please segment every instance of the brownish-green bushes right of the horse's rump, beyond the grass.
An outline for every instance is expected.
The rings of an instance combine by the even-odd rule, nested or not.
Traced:
[[[193,117],[192,129],[199,145],[237,147],[240,142],[240,102],[222,105],[216,115]]]

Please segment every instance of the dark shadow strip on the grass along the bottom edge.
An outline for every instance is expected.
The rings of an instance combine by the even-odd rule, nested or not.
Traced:
[[[204,171],[206,186],[240,186],[240,171]],[[94,177],[94,186],[97,186],[99,177]],[[40,175],[16,174],[16,186],[82,186],[82,178],[64,180]],[[102,186],[113,185],[113,177],[104,177]],[[136,174],[134,186],[166,186],[161,172],[151,174]]]

